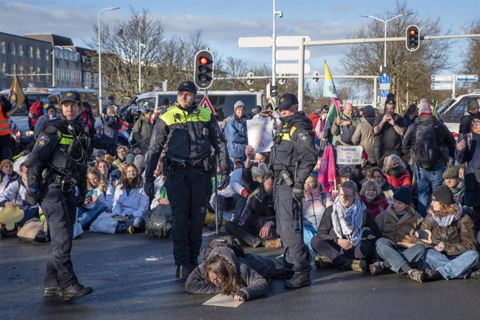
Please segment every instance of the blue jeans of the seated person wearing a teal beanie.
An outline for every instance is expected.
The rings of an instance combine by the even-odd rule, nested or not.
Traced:
[[[417,267],[425,257],[425,247],[422,244],[415,244],[405,249],[394,245],[387,238],[380,238],[375,243],[375,255],[378,261],[386,261],[392,267],[390,270],[396,273],[405,273],[401,268],[408,264],[410,267]]]

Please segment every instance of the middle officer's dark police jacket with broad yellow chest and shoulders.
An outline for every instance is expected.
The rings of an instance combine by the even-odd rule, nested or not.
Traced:
[[[189,110],[184,110],[175,103],[159,116],[146,155],[147,182],[154,181],[153,171],[157,167],[163,146],[166,146],[166,157],[170,161],[189,165],[200,164],[211,155],[210,147],[214,146],[222,172],[230,172],[225,137],[214,115],[207,108],[193,105]]]

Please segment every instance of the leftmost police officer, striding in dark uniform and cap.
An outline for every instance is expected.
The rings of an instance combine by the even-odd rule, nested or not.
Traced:
[[[77,205],[87,192],[87,149],[90,140],[81,122],[81,101],[67,91],[60,101],[61,117],[46,121],[29,155],[26,203],[40,203],[51,235],[45,271],[45,296],[80,298],[93,291],[81,285],[73,271],[73,224]],[[79,196],[75,195],[75,185]]]

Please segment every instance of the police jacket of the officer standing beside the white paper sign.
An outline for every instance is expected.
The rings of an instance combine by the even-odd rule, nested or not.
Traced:
[[[275,178],[286,169],[295,183],[303,185],[317,164],[312,121],[299,113],[283,118],[275,140],[270,155]]]

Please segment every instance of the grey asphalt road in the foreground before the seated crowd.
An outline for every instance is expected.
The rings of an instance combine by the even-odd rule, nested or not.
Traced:
[[[72,260],[80,282],[94,292],[74,301],[44,298],[48,246],[0,239],[1,319],[480,318],[480,280],[420,284],[392,273],[374,277],[335,268],[314,269],[310,287],[288,290],[273,280],[266,296],[238,308],[205,306],[213,295],[188,294],[175,280],[171,239],[145,234],[83,233],[74,239]]]

